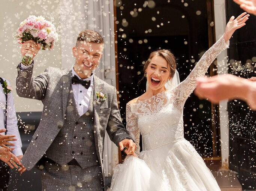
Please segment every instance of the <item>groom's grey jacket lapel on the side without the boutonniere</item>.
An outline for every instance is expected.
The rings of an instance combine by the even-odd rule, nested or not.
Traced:
[[[62,78],[62,109],[63,109],[63,118],[65,118],[66,109],[67,109],[67,98],[69,97],[69,88],[72,79],[72,69],[68,69],[63,72]]]

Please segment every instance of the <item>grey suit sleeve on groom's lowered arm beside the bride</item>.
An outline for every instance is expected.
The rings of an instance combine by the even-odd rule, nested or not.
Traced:
[[[125,138],[131,139],[131,137],[124,128],[124,125],[122,123],[121,115],[117,104],[116,89],[115,87],[113,88],[114,93],[106,131],[108,132],[110,140],[113,141],[119,147],[120,141],[124,140]]]

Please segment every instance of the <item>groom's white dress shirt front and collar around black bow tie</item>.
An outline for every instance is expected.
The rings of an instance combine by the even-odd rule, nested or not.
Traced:
[[[72,76],[74,75],[81,79],[72,66]],[[83,79],[84,81],[91,81],[88,90],[84,86],[82,86],[82,84],[72,84],[76,108],[80,116],[84,115],[84,113],[87,112],[90,107],[91,92],[93,91],[93,76],[94,74],[91,75],[89,78]]]

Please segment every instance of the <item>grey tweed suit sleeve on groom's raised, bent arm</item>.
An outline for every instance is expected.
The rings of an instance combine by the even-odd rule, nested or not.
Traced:
[[[43,100],[45,98],[51,68],[46,68],[45,71],[35,79],[33,79],[32,76],[33,68],[34,66],[31,66],[30,68],[21,70],[20,65],[18,65],[16,92],[20,97]]]

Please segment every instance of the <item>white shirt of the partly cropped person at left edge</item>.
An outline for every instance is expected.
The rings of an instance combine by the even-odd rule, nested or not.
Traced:
[[[3,78],[3,80],[5,80]],[[10,83],[6,80],[7,84],[10,85]],[[0,85],[0,129],[5,128],[4,127],[4,122],[5,122],[5,107],[6,107],[6,98],[5,98],[5,94],[3,91],[3,87]],[[10,141],[10,143],[15,144],[14,146],[14,150],[12,151],[13,154],[15,156],[20,156],[23,155],[21,147],[22,147],[22,143],[21,143],[21,137],[19,135],[19,129],[18,129],[18,125],[17,125],[17,117],[16,117],[16,112],[15,112],[15,107],[13,104],[13,95],[12,95],[12,91],[7,94],[7,135],[16,135],[16,139],[17,141]],[[1,133],[2,135],[4,135],[4,132]]]

